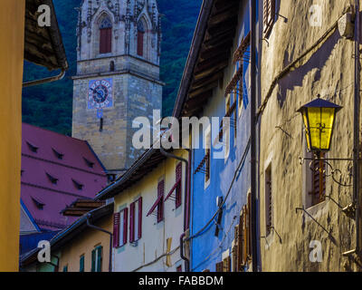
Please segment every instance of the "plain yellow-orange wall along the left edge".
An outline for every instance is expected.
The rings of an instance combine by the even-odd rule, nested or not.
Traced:
[[[0,272],[18,271],[25,1],[1,1]]]

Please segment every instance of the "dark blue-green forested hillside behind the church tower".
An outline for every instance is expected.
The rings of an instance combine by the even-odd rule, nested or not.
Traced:
[[[81,0],[53,0],[70,70],[60,82],[24,89],[23,121],[63,134],[71,134],[72,81],[76,73],[76,25],[74,9]],[[166,82],[163,93],[164,115],[174,107],[179,82],[185,67],[197,15],[202,0],[158,0],[162,17],[161,80]],[[25,63],[24,81],[49,76],[46,70]]]

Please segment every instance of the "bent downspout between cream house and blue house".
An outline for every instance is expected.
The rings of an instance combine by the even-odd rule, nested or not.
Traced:
[[[162,155],[166,156],[167,158],[172,158],[172,159],[175,159],[175,160],[180,160],[182,162],[185,163],[185,207],[184,207],[184,233],[181,235],[180,237],[180,256],[181,258],[185,261],[185,271],[186,272],[189,272],[189,269],[190,269],[190,261],[189,259],[184,256],[184,237],[186,237],[186,229],[188,228],[187,224],[187,220],[188,220],[188,217],[186,217],[186,215],[188,215],[189,213],[189,199],[188,199],[188,176],[189,176],[189,172],[188,172],[188,165],[189,165],[189,162],[186,160],[186,159],[183,159],[181,157],[178,157],[176,156],[175,154],[171,154],[171,153],[168,153],[167,151],[165,151],[162,146],[160,146],[160,152]],[[189,154],[190,154],[190,150],[188,150]],[[190,156],[190,155],[189,155]]]

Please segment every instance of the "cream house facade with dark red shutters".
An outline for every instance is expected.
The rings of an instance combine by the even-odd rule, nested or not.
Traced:
[[[173,153],[188,159],[186,150],[176,150]],[[157,217],[154,215],[146,217],[157,200],[158,181],[165,180],[165,198],[175,185],[175,169],[179,162],[174,159],[162,161],[143,179],[114,198],[115,212],[129,208],[129,204],[140,197],[143,200],[142,237],[133,245],[130,245],[128,239],[125,246],[113,249],[114,272],[176,272],[178,266],[182,266],[182,270],[185,271],[185,263],[180,257],[179,249],[180,236],[184,232],[185,163],[182,164],[182,205],[176,208],[175,200],[168,199],[165,202],[165,218],[162,222],[157,223]],[[165,256],[169,252],[172,254]]]

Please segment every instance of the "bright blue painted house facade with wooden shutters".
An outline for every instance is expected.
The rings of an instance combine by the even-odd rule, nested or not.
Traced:
[[[243,38],[250,32],[249,3],[240,3],[239,23],[236,28],[233,47],[230,48],[229,66],[224,70],[223,88],[216,88],[213,97],[205,104],[202,116],[219,117],[222,121],[226,114],[225,86],[233,78],[233,74],[241,63],[233,63],[233,52]],[[248,48],[250,51],[250,47]],[[192,204],[191,204],[191,266],[193,272],[202,272],[206,269],[214,272],[216,263],[222,262],[225,256],[232,256],[234,227],[239,224],[240,213],[247,202],[250,191],[250,63],[243,61],[243,98],[238,93],[230,95],[231,102],[236,102],[236,109],[231,115],[230,152],[225,159],[214,159],[214,152],[220,151],[211,148],[210,184],[205,186],[205,173],[195,169],[205,157],[205,149],[193,150],[192,173]],[[236,135],[233,123],[236,114]],[[200,140],[204,140],[200,131]],[[212,135],[211,140],[217,136]],[[224,198],[223,217],[218,236],[215,237],[217,217],[210,222],[217,211],[216,199]],[[208,225],[208,226],[207,226]],[[207,227],[205,227],[207,226]],[[204,229],[205,228],[205,229]],[[204,230],[203,230],[204,229]],[[201,232],[200,232],[201,231]],[[247,269],[245,269],[247,270]]]

